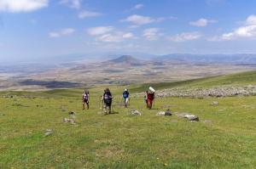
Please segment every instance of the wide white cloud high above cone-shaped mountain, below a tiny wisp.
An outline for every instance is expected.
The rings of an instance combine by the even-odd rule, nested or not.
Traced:
[[[146,25],[155,22],[154,19],[148,17],[148,16],[142,16],[142,15],[137,15],[133,14],[131,16],[128,16],[125,20],[126,22],[131,22],[135,25]]]

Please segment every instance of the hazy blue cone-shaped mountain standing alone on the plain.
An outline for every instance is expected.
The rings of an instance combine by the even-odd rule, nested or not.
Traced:
[[[116,59],[110,59],[107,61],[109,64],[124,64],[124,65],[143,65],[143,60],[137,59],[131,55],[122,55]]]

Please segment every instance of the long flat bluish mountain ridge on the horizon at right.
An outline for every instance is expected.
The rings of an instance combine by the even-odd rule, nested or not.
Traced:
[[[155,59],[188,64],[256,64],[256,54],[167,54]]]

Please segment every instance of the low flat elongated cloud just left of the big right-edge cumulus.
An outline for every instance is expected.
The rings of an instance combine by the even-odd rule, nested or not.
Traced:
[[[191,41],[196,40],[202,37],[201,33],[198,31],[194,32],[184,32],[181,34],[177,34],[174,37],[169,37],[168,39],[173,42],[184,42],[184,41]]]

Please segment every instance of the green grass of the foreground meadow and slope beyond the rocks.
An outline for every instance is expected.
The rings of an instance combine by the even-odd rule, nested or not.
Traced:
[[[239,74],[235,83],[256,82],[254,76]],[[208,87],[224,79],[232,82],[236,76],[189,85]],[[124,87],[111,87],[118,114],[101,115],[103,88],[90,88],[90,110],[85,111],[83,89],[0,93],[16,95],[0,98],[0,168],[255,168],[256,97],[156,99],[154,110],[145,109],[143,98],[134,98],[125,109],[119,106]],[[209,105],[213,101],[219,105]],[[133,108],[143,115],[130,115]],[[155,115],[167,108],[201,121]],[[70,110],[77,113],[76,125],[62,122]],[[46,129],[54,133],[45,137]]]

